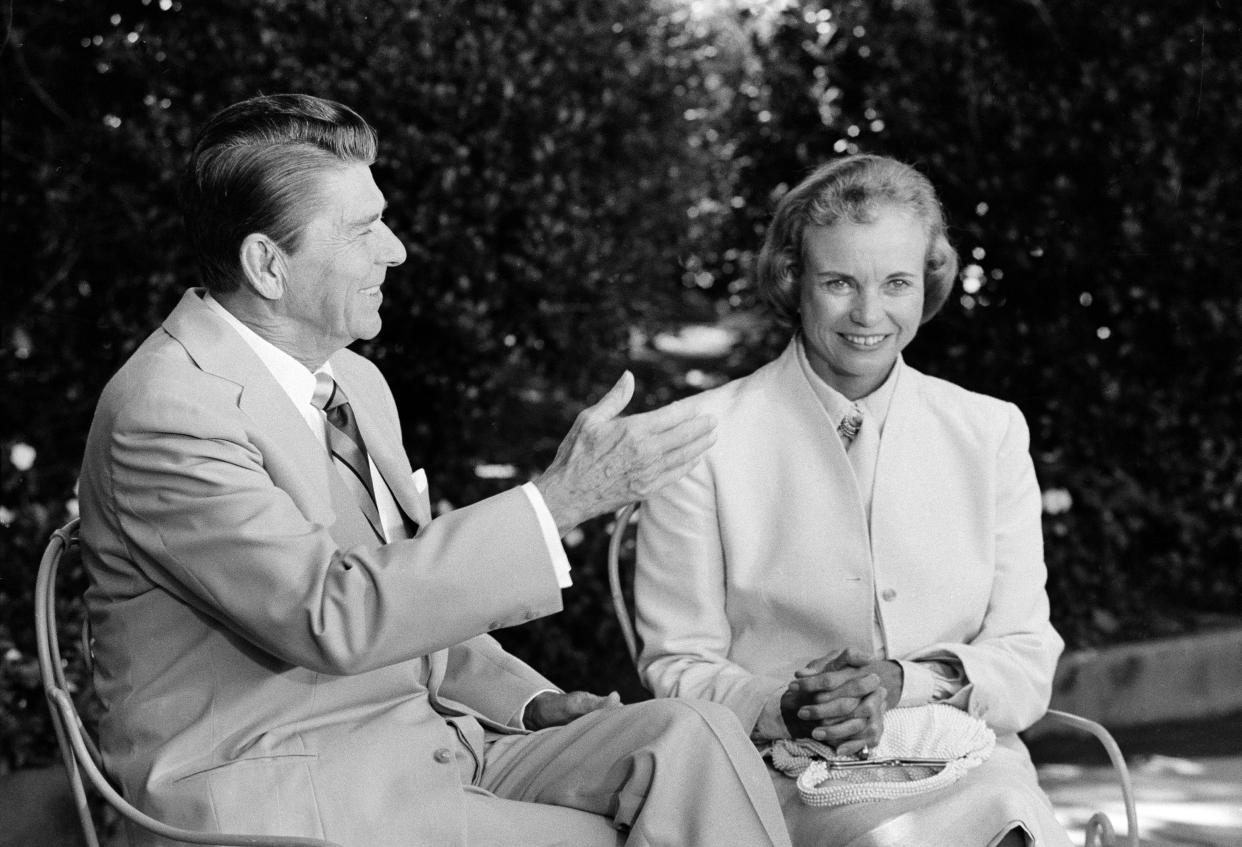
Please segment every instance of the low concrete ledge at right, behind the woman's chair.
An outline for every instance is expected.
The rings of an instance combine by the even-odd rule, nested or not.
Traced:
[[[1068,653],[1052,708],[1109,728],[1242,710],[1242,628]]]

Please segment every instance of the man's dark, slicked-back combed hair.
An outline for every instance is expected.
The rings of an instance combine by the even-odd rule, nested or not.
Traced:
[[[356,112],[309,94],[253,97],[217,112],[181,180],[181,214],[207,289],[238,287],[241,243],[252,232],[297,251],[323,201],[320,175],[370,165],[376,145]]]

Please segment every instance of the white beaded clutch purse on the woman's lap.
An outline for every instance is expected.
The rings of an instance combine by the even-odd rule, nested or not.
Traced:
[[[773,766],[797,777],[809,806],[908,797],[951,785],[982,764],[996,734],[979,718],[944,703],[893,709],[867,759],[837,756],[814,739],[777,740]]]

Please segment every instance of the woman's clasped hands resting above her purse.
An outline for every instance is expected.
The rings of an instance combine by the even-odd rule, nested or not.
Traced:
[[[807,662],[781,695],[781,714],[794,738],[814,738],[838,755],[866,755],[884,732],[884,713],[902,699],[898,662],[861,650]]]

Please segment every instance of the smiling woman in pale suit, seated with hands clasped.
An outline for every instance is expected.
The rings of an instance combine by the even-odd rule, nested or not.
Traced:
[[[868,754],[888,709],[951,704],[997,735],[953,786],[812,807],[773,770],[799,847],[1068,845],[1017,732],[1047,709],[1041,498],[1016,406],[904,364],[958,257],[930,183],[881,156],[780,201],[759,286],[794,325],[754,374],[683,402],[717,443],[643,507],[640,673],[729,705],[760,746]]]

